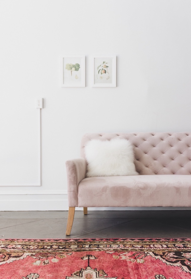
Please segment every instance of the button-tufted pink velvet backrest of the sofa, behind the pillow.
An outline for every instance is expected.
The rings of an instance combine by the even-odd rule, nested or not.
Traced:
[[[139,174],[191,174],[191,133],[100,133],[85,134],[84,146],[93,139],[125,138],[134,146],[135,166]]]

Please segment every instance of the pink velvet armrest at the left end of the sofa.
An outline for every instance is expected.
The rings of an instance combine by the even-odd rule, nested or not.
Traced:
[[[68,206],[78,206],[78,184],[86,177],[87,162],[85,158],[66,161]]]

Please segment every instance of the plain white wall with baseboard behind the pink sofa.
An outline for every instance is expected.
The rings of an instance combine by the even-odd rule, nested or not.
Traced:
[[[91,132],[190,131],[191,1],[1,0],[0,210],[67,210],[65,161]],[[117,87],[91,87],[91,56],[117,56]],[[61,55],[86,87],[61,87]],[[24,163],[23,163],[24,162]],[[25,165],[26,164],[26,165]],[[27,171],[26,171],[27,169]],[[31,172],[29,171],[31,169]]]

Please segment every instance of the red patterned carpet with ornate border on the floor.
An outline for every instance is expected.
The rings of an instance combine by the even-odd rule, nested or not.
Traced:
[[[1,279],[187,279],[191,239],[0,240]]]

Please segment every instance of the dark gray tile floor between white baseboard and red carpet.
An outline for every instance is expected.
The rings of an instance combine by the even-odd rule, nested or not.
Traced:
[[[191,237],[190,210],[76,211],[66,236],[67,211],[0,211],[1,239]]]

